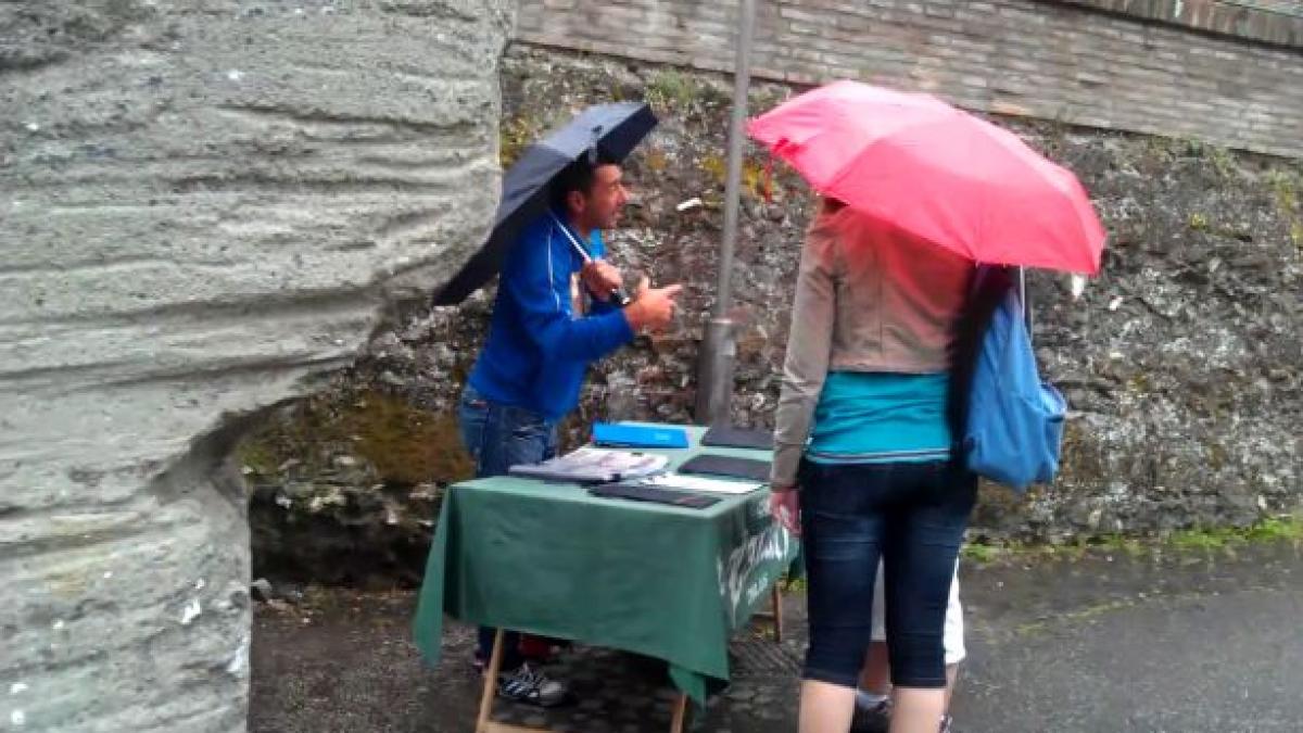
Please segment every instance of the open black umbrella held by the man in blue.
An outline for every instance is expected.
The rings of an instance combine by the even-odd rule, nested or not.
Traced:
[[[435,293],[434,304],[456,305],[498,274],[520,227],[546,210],[549,184],[566,166],[580,155],[601,154],[624,160],[655,125],[652,108],[641,102],[597,104],[526,147],[503,176],[502,202],[493,232],[448,284]],[[579,243],[575,244],[579,248]]]

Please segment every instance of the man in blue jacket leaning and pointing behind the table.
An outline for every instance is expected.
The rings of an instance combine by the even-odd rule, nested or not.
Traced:
[[[461,395],[461,434],[480,477],[551,458],[589,364],[665,327],[680,290],[644,279],[629,301],[619,270],[603,260],[602,231],[619,222],[628,190],[618,158],[601,145],[566,164],[545,196],[503,248],[489,339]],[[480,630],[478,663],[487,663],[494,636]],[[502,669],[502,696],[543,707],[569,696],[525,661],[517,634],[503,638]]]

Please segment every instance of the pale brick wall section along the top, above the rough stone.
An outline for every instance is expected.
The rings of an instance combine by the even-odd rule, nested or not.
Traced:
[[[1119,14],[1141,5],[1171,4],[757,3],[753,73],[800,85],[861,78],[936,93],[972,110],[1303,157],[1303,18],[1235,10],[1231,20],[1248,13],[1256,13],[1255,23],[1267,18],[1264,33],[1270,30],[1269,38],[1287,44],[1281,46],[1257,40],[1250,26],[1243,35],[1227,35],[1235,29],[1230,21],[1217,25],[1207,13],[1196,13],[1220,3],[1178,3],[1175,13],[1162,14],[1170,22]],[[736,7],[736,1],[697,0],[524,0],[516,37],[730,72]]]

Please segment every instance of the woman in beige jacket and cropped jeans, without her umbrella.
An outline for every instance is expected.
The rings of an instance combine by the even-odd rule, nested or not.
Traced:
[[[880,558],[893,730],[938,729],[945,612],[976,497],[973,476],[950,459],[947,421],[952,334],[972,271],[833,200],[807,236],[773,476],[809,573],[803,733],[850,729]]]

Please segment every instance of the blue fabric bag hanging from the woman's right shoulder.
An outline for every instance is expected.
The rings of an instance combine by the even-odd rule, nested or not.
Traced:
[[[1063,395],[1036,369],[1024,301],[1019,273],[1019,287],[995,305],[977,347],[962,446],[969,471],[1020,493],[1058,473],[1067,413]]]

